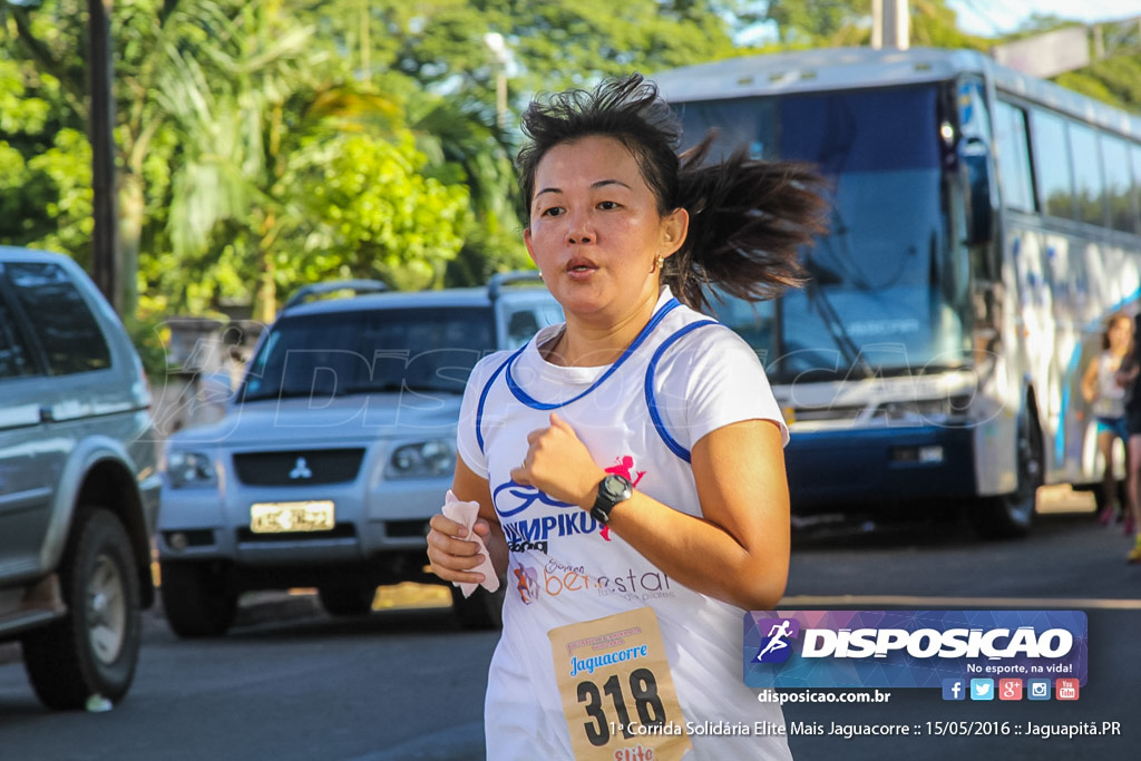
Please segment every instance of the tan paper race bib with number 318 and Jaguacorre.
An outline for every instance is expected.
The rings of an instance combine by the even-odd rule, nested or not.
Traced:
[[[686,720],[652,608],[559,626],[548,635],[575,759],[685,755]]]

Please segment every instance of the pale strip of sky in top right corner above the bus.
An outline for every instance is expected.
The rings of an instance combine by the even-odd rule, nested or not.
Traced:
[[[1092,24],[1141,16],[1141,0],[948,0],[960,29],[981,37],[1012,32],[1034,14]]]

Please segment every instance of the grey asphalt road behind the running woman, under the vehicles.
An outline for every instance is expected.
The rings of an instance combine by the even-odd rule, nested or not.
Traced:
[[[795,758],[1138,758],[1141,566],[1124,562],[1128,545],[1084,516],[1044,516],[1013,542],[979,542],[961,524],[799,534],[784,608],[1082,609],[1090,678],[1073,703],[952,703],[937,689],[903,689],[882,704],[788,704]],[[340,621],[313,596],[261,596],[210,641],[178,640],[161,612],[148,614],[135,686],[108,713],[47,712],[23,669],[0,665],[0,761],[479,761],[496,637],[462,631],[444,607],[412,607],[424,598],[443,601],[439,590],[412,589],[379,599],[390,609]],[[1090,722],[1119,722],[1120,734],[1030,729]],[[909,734],[856,734],[868,727]]]

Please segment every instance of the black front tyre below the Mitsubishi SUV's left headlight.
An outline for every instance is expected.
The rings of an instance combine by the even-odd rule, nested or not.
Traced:
[[[159,593],[170,630],[196,639],[221,637],[237,615],[237,594],[202,564],[163,562]]]

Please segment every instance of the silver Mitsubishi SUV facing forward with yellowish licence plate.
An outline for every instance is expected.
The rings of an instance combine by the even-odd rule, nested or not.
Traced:
[[[438,583],[424,536],[455,468],[463,386],[480,357],[561,322],[536,284],[532,273],[375,293],[353,281],[291,299],[221,420],[167,442],[157,547],[170,628],[222,634],[252,590],[316,588],[330,614],[361,615],[381,584]],[[453,591],[471,628],[499,625],[501,601]]]

